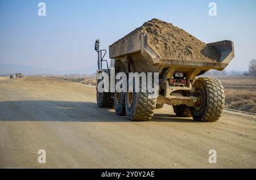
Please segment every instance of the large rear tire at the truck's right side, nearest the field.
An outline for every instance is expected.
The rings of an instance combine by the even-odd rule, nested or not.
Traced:
[[[215,122],[221,117],[225,108],[225,93],[221,82],[216,78],[198,78],[193,84],[196,97],[200,103],[191,108],[193,119],[204,122]]]

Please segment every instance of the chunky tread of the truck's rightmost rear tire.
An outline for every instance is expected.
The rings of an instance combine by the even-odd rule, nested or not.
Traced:
[[[197,80],[202,80],[206,85],[207,106],[204,116],[196,120],[205,122],[218,121],[225,108],[225,92],[223,85],[220,80],[216,78],[202,77]]]

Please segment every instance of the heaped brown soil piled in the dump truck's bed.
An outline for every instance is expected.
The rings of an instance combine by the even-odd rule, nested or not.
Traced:
[[[147,32],[147,44],[161,59],[205,62],[217,62],[220,59],[220,54],[214,49],[171,23],[152,19],[127,36],[141,32]]]

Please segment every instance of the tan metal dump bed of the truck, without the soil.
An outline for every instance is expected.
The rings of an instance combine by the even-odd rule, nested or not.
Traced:
[[[180,59],[161,59],[147,44],[147,33],[126,36],[109,46],[109,57],[112,59],[125,59],[130,56],[137,66],[136,72],[159,72],[164,67],[178,68],[199,68],[201,72],[213,70],[224,70],[234,57],[234,46],[232,41],[224,40],[207,44],[212,49],[221,54],[216,62],[180,60]],[[182,71],[182,69],[181,69]]]

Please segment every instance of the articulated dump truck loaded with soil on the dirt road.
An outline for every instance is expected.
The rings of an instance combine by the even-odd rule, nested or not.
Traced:
[[[107,63],[107,68],[102,68],[106,50],[99,50],[99,40],[95,50],[97,76],[102,72],[109,74],[111,68],[115,74],[159,73],[157,97],[148,92],[97,91],[99,107],[114,106],[118,115],[127,115],[133,121],[149,121],[154,109],[163,104],[172,105],[178,117],[204,122],[215,122],[221,117],[225,108],[224,87],[216,78],[199,75],[228,66],[234,58],[232,41],[205,44],[183,29],[152,19],[109,46],[110,67]]]

